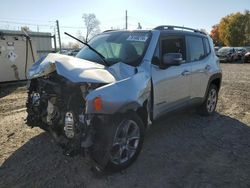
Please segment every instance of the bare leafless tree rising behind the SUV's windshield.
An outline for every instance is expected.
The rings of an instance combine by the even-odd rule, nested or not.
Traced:
[[[95,14],[83,14],[82,18],[86,28],[86,35],[84,39],[85,42],[88,42],[91,37],[100,33],[100,22],[96,18]]]

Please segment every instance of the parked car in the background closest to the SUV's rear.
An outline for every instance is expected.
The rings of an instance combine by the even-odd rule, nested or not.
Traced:
[[[233,62],[238,59],[238,54],[233,47],[222,47],[218,50],[217,56],[220,62]]]

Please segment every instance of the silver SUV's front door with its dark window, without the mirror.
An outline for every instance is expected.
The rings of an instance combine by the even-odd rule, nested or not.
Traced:
[[[183,63],[166,69],[159,64],[165,53],[181,53]],[[189,85],[191,67],[186,63],[186,44],[183,35],[168,35],[160,38],[152,63],[152,80],[154,88],[154,118],[161,114],[185,106],[190,99]]]

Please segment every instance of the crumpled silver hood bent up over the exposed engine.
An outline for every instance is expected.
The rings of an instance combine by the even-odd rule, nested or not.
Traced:
[[[135,68],[124,63],[110,67],[67,55],[50,53],[29,69],[29,79],[56,71],[74,83],[112,83],[135,74]]]

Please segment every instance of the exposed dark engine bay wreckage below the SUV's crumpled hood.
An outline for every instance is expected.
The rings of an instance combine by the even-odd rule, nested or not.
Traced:
[[[68,152],[75,152],[80,146],[89,147],[89,131],[93,130],[85,116],[85,97],[102,85],[74,84],[56,72],[32,79],[26,104],[27,124],[52,132]]]

